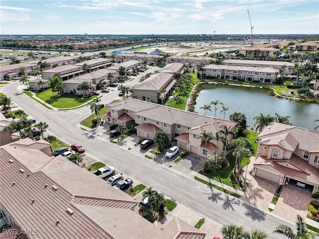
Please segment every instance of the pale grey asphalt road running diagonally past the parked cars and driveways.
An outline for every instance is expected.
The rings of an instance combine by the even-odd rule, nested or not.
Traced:
[[[138,79],[137,79],[138,80]],[[135,81],[137,81],[135,80]],[[130,82],[133,84],[134,82]],[[130,85],[131,85],[130,84]],[[112,143],[91,136],[78,128],[77,124],[90,115],[88,107],[69,111],[52,111],[39,105],[25,94],[17,90],[19,82],[3,87],[2,92],[37,121],[49,124],[48,130],[68,144],[80,143],[86,153],[94,158],[113,165],[121,172],[129,175],[148,187],[153,187],[163,194],[183,204],[189,209],[203,215],[220,225],[236,224],[246,230],[260,229],[273,239],[285,239],[281,235],[272,234],[279,224],[287,224],[270,213],[264,212],[238,198],[234,198],[194,180],[174,172],[149,159],[143,158]],[[114,100],[118,90],[112,91],[102,98],[103,104]],[[295,219],[292,219],[295,221]]]

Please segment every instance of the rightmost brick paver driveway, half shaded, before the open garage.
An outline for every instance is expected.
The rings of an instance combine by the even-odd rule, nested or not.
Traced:
[[[306,218],[312,199],[310,193],[285,185],[272,213],[295,222],[297,215]]]

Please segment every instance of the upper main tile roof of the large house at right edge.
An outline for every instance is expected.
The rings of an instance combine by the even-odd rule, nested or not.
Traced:
[[[279,134],[285,134],[290,132],[292,136],[299,142],[297,148],[311,151],[319,149],[319,132],[301,128],[297,126],[287,125],[278,122],[272,122],[269,124],[259,135],[258,139],[275,137]]]

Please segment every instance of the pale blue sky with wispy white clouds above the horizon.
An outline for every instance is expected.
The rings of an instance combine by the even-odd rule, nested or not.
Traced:
[[[1,0],[1,34],[319,34],[319,0]]]

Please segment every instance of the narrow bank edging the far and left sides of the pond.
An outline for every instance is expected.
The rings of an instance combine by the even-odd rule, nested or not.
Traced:
[[[204,84],[215,84],[215,85],[221,84],[221,85],[230,85],[230,86],[243,86],[243,87],[253,87],[253,88],[260,88],[260,89],[269,89],[269,90],[271,90],[270,95],[276,96],[279,99],[319,104],[319,101],[317,101],[317,100],[300,99],[298,97],[282,96],[282,95],[278,94],[274,88],[269,87],[269,86],[253,86],[253,85],[235,84],[235,83],[228,83],[228,82],[227,83],[224,83],[224,82],[198,82],[197,84],[195,84],[193,86],[192,90],[190,91],[190,93],[186,99],[185,111],[188,111],[188,109],[190,107],[193,107],[193,104],[191,104],[190,96],[195,92],[197,86],[204,85]]]

